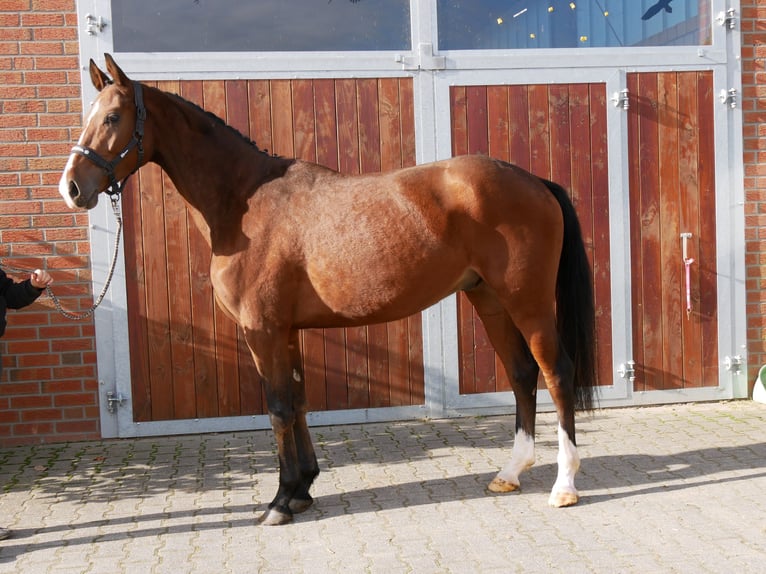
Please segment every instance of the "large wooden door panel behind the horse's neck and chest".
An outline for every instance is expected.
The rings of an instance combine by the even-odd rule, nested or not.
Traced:
[[[415,163],[412,80],[157,82],[272,153],[344,173]],[[266,412],[238,327],[218,309],[210,250],[172,183],[141,169],[123,194],[135,421]],[[302,335],[311,410],[424,401],[421,318]]]

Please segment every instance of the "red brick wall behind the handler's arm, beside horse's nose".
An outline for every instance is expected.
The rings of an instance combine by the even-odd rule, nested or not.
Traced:
[[[75,0],[0,0],[0,259],[45,267],[67,309],[92,301],[86,214],[57,183],[82,106]],[[0,339],[0,445],[99,437],[92,320],[45,296],[9,311]]]

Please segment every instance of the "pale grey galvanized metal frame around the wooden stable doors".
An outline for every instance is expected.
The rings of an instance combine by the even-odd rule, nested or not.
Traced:
[[[738,2],[712,0],[713,14]],[[87,15],[99,15],[106,26],[87,30]],[[77,0],[80,22],[80,61],[83,109],[95,97],[87,62],[114,53],[109,0]],[[438,51],[436,0],[412,0],[413,49],[406,53],[119,54],[118,61],[136,79],[232,79],[322,77],[412,77],[415,98],[416,159],[425,163],[451,155],[449,126],[450,85],[497,85],[530,83],[603,82],[608,97],[625,87],[625,75],[633,71],[713,70],[716,93],[735,89],[741,93],[738,29],[727,31],[713,23],[713,42],[704,47],[567,50]],[[608,155],[610,243],[612,272],[613,364],[631,356],[630,336],[630,241],[628,194],[627,117],[608,106]],[[746,311],[744,263],[744,182],[742,163],[742,114],[738,107],[715,107],[717,200],[717,268],[719,310],[719,356],[740,357],[739,372],[730,373],[722,363],[717,388],[633,393],[632,385],[615,375],[614,384],[602,390],[602,405],[711,400],[746,396]],[[719,133],[720,130],[720,133]],[[91,265],[96,285],[106,278],[115,241],[115,222],[108,202],[89,213]],[[618,249],[622,246],[622,249]],[[158,422],[133,422],[130,403],[130,355],[124,255],[118,260],[112,288],[95,314],[97,368],[99,373],[101,429],[104,437],[152,436],[209,431],[268,428],[266,415],[214,417]],[[509,412],[512,393],[460,395],[457,343],[457,305],[448,297],[422,314],[425,403],[412,407],[353,409],[311,413],[312,425],[442,417],[466,413]],[[736,359],[735,359],[736,362]],[[107,394],[112,393],[109,401]],[[124,400],[120,404],[119,399]],[[551,408],[547,392],[541,392],[540,408]],[[110,407],[114,407],[110,410]]]

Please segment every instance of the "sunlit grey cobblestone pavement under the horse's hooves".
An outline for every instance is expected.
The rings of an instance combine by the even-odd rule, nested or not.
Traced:
[[[316,504],[276,491],[270,432],[0,450],[0,572],[765,572],[766,406],[602,410],[578,422],[580,503],[547,505],[556,423],[522,492],[485,486],[513,416],[312,429]]]

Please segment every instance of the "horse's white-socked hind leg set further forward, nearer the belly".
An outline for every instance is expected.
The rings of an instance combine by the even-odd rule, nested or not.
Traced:
[[[516,437],[511,460],[492,479],[492,492],[520,488],[519,475],[535,462],[535,415],[539,368],[510,315],[486,283],[466,292],[484,324],[487,336],[503,363],[516,396]]]

